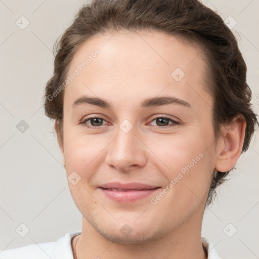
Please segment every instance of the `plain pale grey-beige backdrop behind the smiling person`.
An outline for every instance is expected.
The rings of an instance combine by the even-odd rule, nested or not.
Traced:
[[[81,214],[70,195],[52,133],[54,124],[45,116],[41,98],[53,72],[54,42],[84,3],[0,0],[0,250],[56,241],[65,233],[81,230]],[[258,114],[259,1],[203,3],[230,26],[236,23],[232,31],[247,64],[253,109]],[[26,25],[21,16],[29,22],[25,29],[20,28],[21,22],[17,25],[19,19]],[[19,125],[24,126],[24,132]],[[219,189],[218,199],[204,214],[202,236],[222,258],[259,258],[256,136],[258,132],[241,155],[232,179]],[[21,224],[28,228],[24,237],[18,231],[26,230]]]

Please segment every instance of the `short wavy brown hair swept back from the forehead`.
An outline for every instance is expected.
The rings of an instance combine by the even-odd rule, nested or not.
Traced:
[[[53,100],[48,97],[64,82],[78,48],[92,36],[108,31],[144,29],[165,32],[202,46],[209,70],[207,90],[213,97],[215,143],[222,134],[221,126],[242,114],[246,121],[242,152],[246,151],[258,123],[251,109],[246,64],[234,34],[223,19],[197,0],[93,0],[83,5],[72,25],[56,41],[54,74],[46,86],[45,113],[57,120],[58,137],[63,140],[64,91]],[[212,202],[215,189],[230,171],[217,172],[206,205]]]

